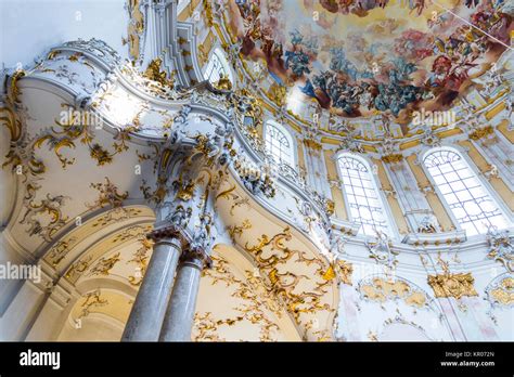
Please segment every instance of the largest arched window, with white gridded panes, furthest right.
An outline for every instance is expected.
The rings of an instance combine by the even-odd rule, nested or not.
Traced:
[[[489,224],[507,226],[498,204],[459,153],[437,148],[423,164],[467,235],[486,233]]]

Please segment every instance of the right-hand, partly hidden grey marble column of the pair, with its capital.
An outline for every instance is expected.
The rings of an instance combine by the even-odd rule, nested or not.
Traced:
[[[200,277],[210,258],[202,250],[188,250],[181,256],[174,291],[160,330],[160,341],[190,341]]]

